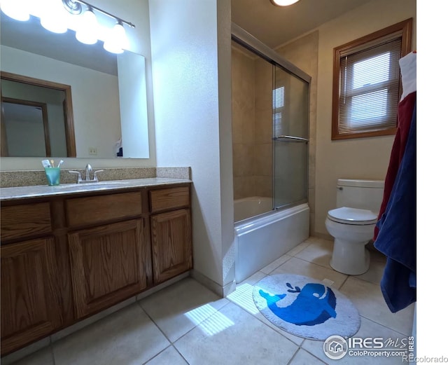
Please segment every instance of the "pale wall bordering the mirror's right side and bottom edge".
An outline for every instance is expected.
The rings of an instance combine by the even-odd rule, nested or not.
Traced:
[[[90,163],[94,169],[101,167],[152,167],[155,160],[155,134],[153,116],[153,89],[151,75],[151,40],[149,36],[148,0],[96,0],[95,6],[132,22],[134,29],[126,27],[130,40],[129,50],[146,58],[146,85],[148,90],[148,130],[150,158],[64,158],[65,168],[83,168]],[[113,20],[111,20],[113,22]],[[3,65],[3,62],[2,62]],[[78,138],[76,138],[78,140]],[[88,146],[87,146],[88,147]],[[113,146],[112,146],[113,148]],[[41,158],[1,158],[0,170],[41,170]]]

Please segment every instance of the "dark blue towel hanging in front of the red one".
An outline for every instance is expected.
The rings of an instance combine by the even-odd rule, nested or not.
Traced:
[[[374,242],[386,255],[381,291],[391,312],[416,301],[416,105],[391,198]]]

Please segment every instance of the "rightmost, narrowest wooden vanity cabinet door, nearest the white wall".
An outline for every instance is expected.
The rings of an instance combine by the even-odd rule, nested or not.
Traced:
[[[193,268],[190,209],[151,216],[154,284]]]

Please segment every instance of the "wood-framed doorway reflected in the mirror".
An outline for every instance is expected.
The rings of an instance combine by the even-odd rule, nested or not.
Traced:
[[[0,76],[1,157],[76,157],[70,85]]]

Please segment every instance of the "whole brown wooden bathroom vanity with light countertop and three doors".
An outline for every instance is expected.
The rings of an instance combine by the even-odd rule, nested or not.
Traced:
[[[193,268],[190,182],[127,181],[2,193],[2,356]]]

